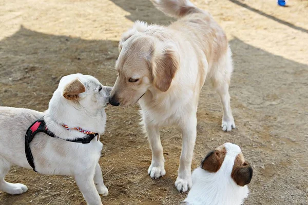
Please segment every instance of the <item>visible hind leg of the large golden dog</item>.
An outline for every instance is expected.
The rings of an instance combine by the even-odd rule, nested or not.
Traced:
[[[234,118],[230,106],[229,84],[233,71],[231,50],[228,48],[224,60],[218,65],[216,74],[212,77],[211,81],[217,93],[220,96],[223,116],[221,127],[223,131],[230,131],[235,129]]]

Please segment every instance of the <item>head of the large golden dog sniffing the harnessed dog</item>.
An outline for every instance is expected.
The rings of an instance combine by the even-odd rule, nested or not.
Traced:
[[[150,88],[161,92],[169,89],[179,59],[174,44],[151,35],[156,29],[155,26],[137,22],[123,34],[120,55],[115,64],[118,78],[109,98],[111,105],[136,104]]]

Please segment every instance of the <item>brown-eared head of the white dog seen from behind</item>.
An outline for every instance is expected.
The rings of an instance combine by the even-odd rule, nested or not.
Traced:
[[[201,161],[201,168],[210,173],[219,172],[222,166],[237,185],[245,186],[251,182],[253,168],[245,161],[239,146],[225,143],[210,151]],[[230,166],[233,166],[232,169],[227,169]]]

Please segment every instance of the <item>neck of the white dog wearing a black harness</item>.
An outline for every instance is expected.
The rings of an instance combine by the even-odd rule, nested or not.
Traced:
[[[63,139],[84,137],[85,134],[76,130],[69,132],[62,124],[69,128],[80,127],[99,134],[105,131],[106,113],[103,109],[101,112],[89,113],[83,111],[78,103],[72,106],[66,99],[53,96],[45,113],[44,120],[48,130]]]

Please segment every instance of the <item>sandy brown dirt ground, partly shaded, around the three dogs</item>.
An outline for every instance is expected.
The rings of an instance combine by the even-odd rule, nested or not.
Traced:
[[[237,129],[221,130],[218,95],[200,97],[192,168],[211,149],[238,144],[254,168],[245,204],[308,204],[308,1],[279,7],[268,0],[194,0],[227,33],[235,71],[230,87]],[[0,0],[0,106],[44,111],[61,76],[81,72],[113,85],[118,41],[134,20],[174,19],[147,0]],[[181,136],[161,130],[167,174],[147,175],[151,152],[138,106],[108,107],[100,164],[109,195],[103,204],[179,204],[174,187]],[[12,167],[6,179],[29,191],[0,192],[0,204],[86,204],[72,178]]]

